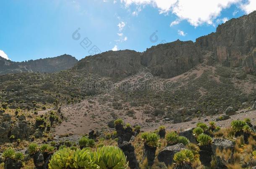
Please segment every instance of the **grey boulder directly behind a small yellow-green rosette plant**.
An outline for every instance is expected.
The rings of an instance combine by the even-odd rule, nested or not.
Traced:
[[[166,166],[172,164],[173,156],[175,153],[186,149],[183,144],[175,144],[173,146],[166,146],[162,151],[159,152],[157,159],[159,162],[164,162]]]

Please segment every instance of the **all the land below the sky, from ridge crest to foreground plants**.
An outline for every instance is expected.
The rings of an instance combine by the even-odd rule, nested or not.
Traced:
[[[256,168],[256,11],[76,62],[0,59],[0,168]]]

